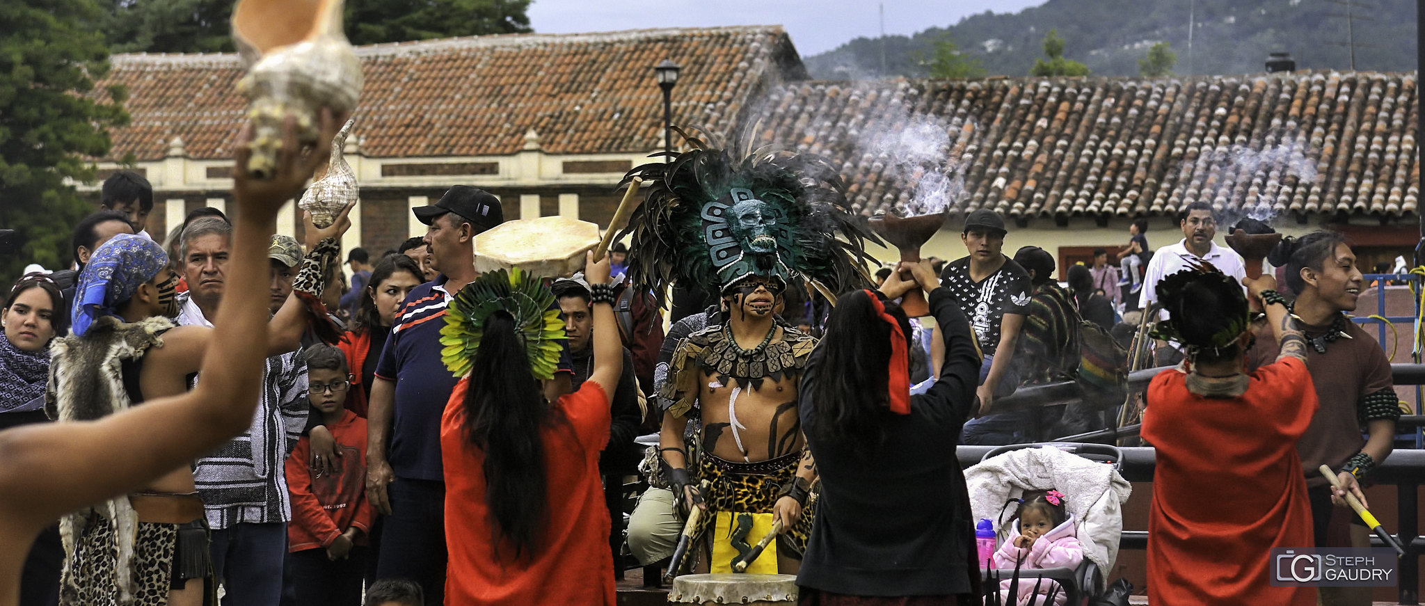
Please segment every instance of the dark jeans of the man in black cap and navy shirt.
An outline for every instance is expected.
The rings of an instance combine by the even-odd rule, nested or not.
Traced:
[[[396,478],[386,495],[376,577],[415,580],[428,605],[445,603],[445,482]]]

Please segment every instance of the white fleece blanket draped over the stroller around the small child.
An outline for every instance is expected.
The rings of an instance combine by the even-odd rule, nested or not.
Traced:
[[[1133,486],[1113,469],[1053,446],[1010,451],[965,469],[965,485],[970,493],[975,519],[995,520],[995,533],[1013,518],[1016,506],[1005,508],[1009,499],[1025,491],[1056,489],[1064,493],[1066,509],[1077,520],[1079,543],[1089,560],[1103,570],[1100,587],[1107,587],[1109,572],[1119,558],[1119,533],[1123,530],[1123,503]],[[1003,508],[1003,515],[1000,509]],[[1000,516],[996,519],[996,516]]]

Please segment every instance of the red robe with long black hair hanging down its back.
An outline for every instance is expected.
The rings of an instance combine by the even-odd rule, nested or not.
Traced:
[[[608,506],[598,453],[608,443],[608,396],[584,381],[559,399],[563,419],[547,422],[544,479],[549,518],[533,556],[513,560],[509,542],[494,558],[490,509],[484,505],[484,452],[465,436],[463,404],[470,379],[456,384],[440,418],[445,462],[446,603],[614,606],[614,562],[608,552]],[[1300,473],[1298,473],[1300,475]]]

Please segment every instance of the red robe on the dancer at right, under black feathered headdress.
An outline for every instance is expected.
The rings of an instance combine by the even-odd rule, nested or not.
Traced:
[[[1149,602],[1312,606],[1314,587],[1273,587],[1271,548],[1310,548],[1297,439],[1317,412],[1305,362],[1251,374],[1237,398],[1203,398],[1186,375],[1149,385],[1141,435],[1157,449],[1149,512]]]

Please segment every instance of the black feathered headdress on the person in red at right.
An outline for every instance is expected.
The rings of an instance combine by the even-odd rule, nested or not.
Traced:
[[[1186,308],[1188,302],[1184,301],[1184,292],[1188,287],[1201,287],[1226,299],[1240,301],[1241,315],[1226,318],[1223,328],[1206,339],[1201,335],[1184,335],[1183,322],[1186,322],[1188,314],[1197,312]],[[1247,295],[1243,294],[1241,284],[1207,261],[1187,260],[1187,269],[1159,281],[1157,297],[1163,308],[1167,309],[1168,318],[1154,324],[1150,337],[1163,341],[1176,341],[1188,348],[1220,349],[1230,346],[1237,337],[1247,331],[1247,325],[1251,321],[1251,312],[1247,308]]]

